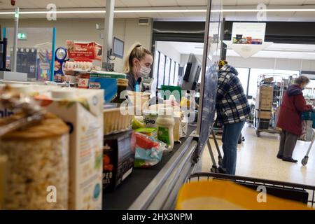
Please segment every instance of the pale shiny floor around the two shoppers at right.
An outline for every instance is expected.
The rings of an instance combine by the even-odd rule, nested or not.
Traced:
[[[303,167],[302,158],[307,152],[309,142],[297,141],[293,158],[299,160],[297,164],[283,162],[276,158],[279,147],[279,135],[261,133],[261,137],[256,137],[255,130],[245,125],[242,134],[245,141],[239,144],[237,152],[237,176],[249,176],[260,179],[270,179],[276,181],[286,181],[290,183],[302,183],[315,186],[315,145],[309,155],[308,164]],[[221,146],[221,140],[218,140]],[[217,153],[214,141],[211,139],[211,147]],[[221,153],[223,153],[221,148]],[[202,155],[202,172],[209,172],[212,166],[209,151],[205,148]]]

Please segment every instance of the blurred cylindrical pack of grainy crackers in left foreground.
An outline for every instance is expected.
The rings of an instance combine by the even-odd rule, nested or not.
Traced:
[[[0,119],[0,128],[18,115]],[[48,113],[36,125],[0,139],[8,156],[4,209],[68,209],[69,127]]]

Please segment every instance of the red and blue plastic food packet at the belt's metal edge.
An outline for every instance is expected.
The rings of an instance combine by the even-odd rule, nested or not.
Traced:
[[[146,168],[157,165],[161,161],[167,146],[153,137],[137,132],[136,139],[134,167]]]

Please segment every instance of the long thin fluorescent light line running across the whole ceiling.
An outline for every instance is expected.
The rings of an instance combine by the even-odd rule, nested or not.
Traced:
[[[20,15],[46,14],[50,11],[20,11]],[[144,9],[144,10],[115,10],[114,13],[206,13],[206,9]],[[258,13],[258,12],[315,12],[315,8],[293,8],[293,9],[223,9],[212,10],[212,12],[225,13]],[[56,10],[57,14],[81,14],[81,13],[106,13],[106,10]],[[13,15],[14,12],[0,12],[0,15]]]

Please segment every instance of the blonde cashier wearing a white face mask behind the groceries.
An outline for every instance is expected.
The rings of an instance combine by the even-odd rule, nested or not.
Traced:
[[[125,57],[123,72],[126,73],[128,82],[127,90],[144,92],[142,78],[149,76],[153,64],[152,53],[144,48],[141,43],[134,43]]]

